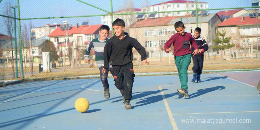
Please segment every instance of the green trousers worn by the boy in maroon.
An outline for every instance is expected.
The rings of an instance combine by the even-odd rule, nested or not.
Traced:
[[[188,90],[188,67],[191,64],[191,54],[184,56],[174,56],[175,65],[177,66],[181,88]]]

